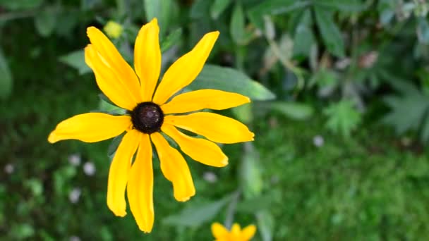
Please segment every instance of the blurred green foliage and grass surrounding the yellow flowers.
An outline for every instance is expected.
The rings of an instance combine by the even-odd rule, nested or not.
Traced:
[[[0,0],[0,239],[212,240],[210,224],[255,223],[254,240],[429,236],[429,3],[424,0]],[[107,209],[110,141],[49,144],[59,121],[100,100],[86,27],[109,20],[132,61],[157,17],[163,70],[205,32],[210,63],[188,89],[247,94],[224,111],[255,142],[229,166],[188,159],[197,195],[174,200],[155,163],[155,225]],[[222,67],[217,67],[222,66]]]

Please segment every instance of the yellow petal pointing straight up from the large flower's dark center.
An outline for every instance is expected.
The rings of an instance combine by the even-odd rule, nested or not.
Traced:
[[[134,68],[140,78],[143,101],[151,101],[161,71],[159,27],[156,18],[143,25],[135,39]]]

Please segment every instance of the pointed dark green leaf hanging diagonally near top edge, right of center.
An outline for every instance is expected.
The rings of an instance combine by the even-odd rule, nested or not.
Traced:
[[[335,56],[344,57],[344,40],[339,28],[334,23],[332,11],[320,7],[315,7],[314,10],[316,23],[327,50]]]

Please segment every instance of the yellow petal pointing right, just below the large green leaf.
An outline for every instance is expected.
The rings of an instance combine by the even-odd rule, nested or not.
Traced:
[[[179,94],[161,106],[164,113],[185,113],[201,109],[223,110],[250,102],[248,97],[217,89],[200,89]]]

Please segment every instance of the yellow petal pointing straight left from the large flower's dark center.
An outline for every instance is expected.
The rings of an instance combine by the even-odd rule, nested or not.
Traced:
[[[116,137],[130,125],[130,116],[84,113],[61,121],[49,134],[48,141],[54,143],[60,140],[75,139],[83,142],[99,142]]]

